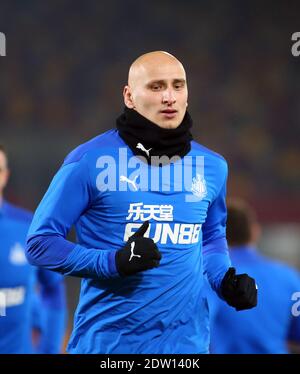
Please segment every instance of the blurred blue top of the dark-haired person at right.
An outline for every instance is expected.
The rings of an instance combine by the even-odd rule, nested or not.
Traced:
[[[208,286],[211,352],[288,353],[288,341],[300,343],[299,274],[251,246],[234,247],[230,257],[240,272],[255,278],[259,300],[256,308],[236,312]]]

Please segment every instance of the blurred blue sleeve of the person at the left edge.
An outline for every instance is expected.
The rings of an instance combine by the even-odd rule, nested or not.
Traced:
[[[38,352],[60,353],[65,335],[66,295],[63,277],[40,268],[38,271],[42,304],[42,334]]]

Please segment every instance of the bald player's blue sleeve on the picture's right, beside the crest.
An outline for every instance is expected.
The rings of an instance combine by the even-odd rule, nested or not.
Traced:
[[[212,202],[203,224],[203,268],[213,290],[220,295],[222,279],[231,265],[226,240],[226,181]]]

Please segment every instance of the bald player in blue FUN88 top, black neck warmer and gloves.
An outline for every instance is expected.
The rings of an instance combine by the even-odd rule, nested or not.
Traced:
[[[227,164],[192,141],[186,74],[174,56],[136,59],[123,96],[117,129],[64,160],[35,213],[27,258],[83,278],[70,353],[207,353],[202,251],[212,287],[230,305],[252,308],[257,298],[254,280],[229,270]],[[155,176],[173,173],[187,154],[204,157],[206,182],[195,163],[188,190],[174,190],[182,176]],[[146,180],[158,189],[142,187]],[[78,243],[66,240],[73,224]]]

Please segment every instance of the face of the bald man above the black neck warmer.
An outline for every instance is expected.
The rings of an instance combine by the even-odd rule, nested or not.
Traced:
[[[183,66],[167,59],[140,66],[124,89],[125,105],[165,129],[178,127],[185,115],[188,90]],[[130,82],[129,82],[130,84]]]

